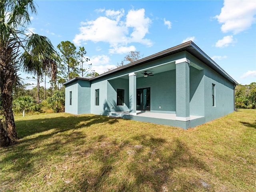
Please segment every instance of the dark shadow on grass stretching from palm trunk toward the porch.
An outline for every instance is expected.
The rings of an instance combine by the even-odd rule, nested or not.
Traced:
[[[22,181],[23,178],[26,178],[26,174],[37,169],[34,167],[35,161],[42,159],[44,162],[44,158],[58,151],[62,151],[60,156],[64,155],[66,144],[74,146],[83,144],[83,141],[86,140],[86,134],[79,128],[89,127],[93,124],[114,124],[116,122],[118,120],[99,115],[17,120],[16,130],[19,140],[15,145],[1,149],[7,154],[1,158],[1,162],[8,164],[7,170],[20,172],[12,180],[15,182]],[[66,133],[69,130],[72,132]],[[49,138],[52,138],[50,143],[48,143]],[[60,150],[61,148],[64,150]]]

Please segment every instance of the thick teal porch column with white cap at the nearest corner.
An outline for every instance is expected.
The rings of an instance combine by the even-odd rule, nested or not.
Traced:
[[[189,64],[190,60],[182,58],[176,60],[176,120],[190,120],[190,88]]]

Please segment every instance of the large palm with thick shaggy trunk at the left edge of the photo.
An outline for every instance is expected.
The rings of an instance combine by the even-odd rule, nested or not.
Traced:
[[[27,52],[29,45],[26,42],[30,40],[33,42],[33,37],[35,37],[34,40],[39,40],[36,43],[38,46],[37,52],[40,52],[42,46],[48,46],[48,44],[43,44],[45,41],[40,41],[41,36],[27,36],[24,33],[28,24],[30,24],[30,12],[36,14],[33,0],[0,0],[0,96],[4,116],[3,121],[1,119],[1,125],[3,124],[1,128],[6,127],[6,130],[1,129],[1,134],[7,131],[12,140],[17,139],[12,111],[12,92],[20,68],[18,62],[20,51],[25,49],[25,52]],[[24,43],[26,46],[24,46]]]

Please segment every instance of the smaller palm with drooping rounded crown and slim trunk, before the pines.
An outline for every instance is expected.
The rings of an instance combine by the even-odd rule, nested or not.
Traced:
[[[26,41],[21,62],[26,72],[37,76],[37,103],[39,104],[40,78],[43,74],[50,74],[52,80],[56,80],[58,55],[47,37],[31,34]]]

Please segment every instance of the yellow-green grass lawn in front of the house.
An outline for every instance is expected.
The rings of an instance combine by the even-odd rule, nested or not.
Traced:
[[[0,191],[256,191],[256,110],[196,128],[98,115],[16,116]]]

